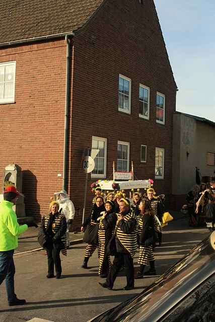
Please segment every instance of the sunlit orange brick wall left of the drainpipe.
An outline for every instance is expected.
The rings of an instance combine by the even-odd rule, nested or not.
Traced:
[[[16,103],[0,105],[0,188],[5,166],[18,164],[26,213],[38,218],[62,188],[65,55],[63,40],[0,50],[0,62],[16,60]]]

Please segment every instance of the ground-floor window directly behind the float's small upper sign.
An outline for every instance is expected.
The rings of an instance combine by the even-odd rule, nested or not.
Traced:
[[[116,171],[129,171],[129,143],[118,141]]]

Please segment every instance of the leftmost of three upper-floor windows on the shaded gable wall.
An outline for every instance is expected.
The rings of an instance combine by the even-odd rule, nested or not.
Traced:
[[[130,114],[131,79],[119,75],[119,105],[118,110]]]

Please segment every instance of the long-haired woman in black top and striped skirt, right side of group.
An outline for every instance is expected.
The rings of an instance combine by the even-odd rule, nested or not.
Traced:
[[[155,235],[154,225],[154,211],[148,201],[141,201],[140,205],[140,219],[138,223],[139,232],[139,259],[140,265],[136,278],[144,277],[144,269],[148,261],[150,263],[150,270],[146,272],[146,275],[156,275],[155,271],[155,257],[153,254],[153,244]]]

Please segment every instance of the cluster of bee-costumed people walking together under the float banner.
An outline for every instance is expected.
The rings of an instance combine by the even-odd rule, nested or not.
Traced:
[[[147,195],[133,193],[132,203],[123,192],[113,192],[104,196],[102,189],[95,189],[92,211],[84,220],[81,231],[85,232],[87,243],[82,268],[88,268],[88,261],[98,248],[99,271],[105,283],[104,288],[112,289],[114,281],[123,268],[127,284],[125,290],[134,287],[134,278],[156,275],[153,250],[158,241],[162,243],[162,215],[164,206],[155,196],[153,188]],[[133,257],[139,248],[139,271],[134,276]],[[111,263],[110,256],[114,256]],[[145,272],[145,266],[150,269]]]

